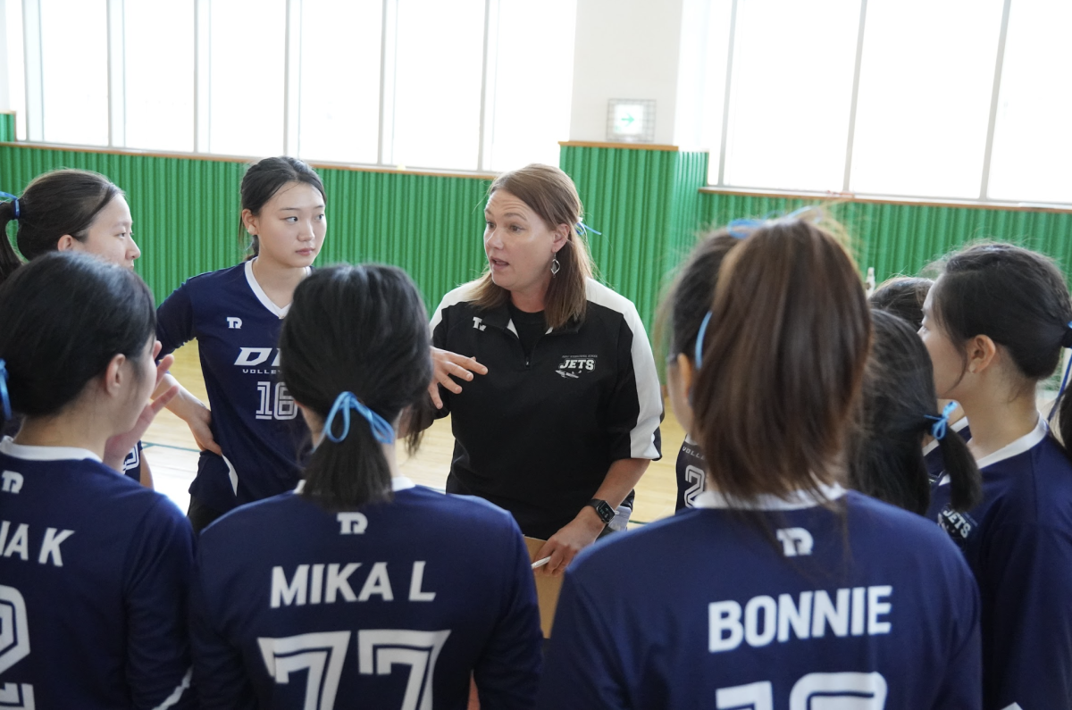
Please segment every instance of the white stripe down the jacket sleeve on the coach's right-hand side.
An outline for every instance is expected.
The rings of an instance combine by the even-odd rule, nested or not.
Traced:
[[[637,425],[629,432],[629,456],[635,459],[657,459],[659,450],[655,446],[655,431],[662,418],[662,388],[655,369],[655,355],[652,354],[647,331],[644,330],[637,307],[631,300],[595,279],[587,280],[585,295],[591,302],[621,313],[632,331],[632,371],[637,380],[640,411],[637,414]]]

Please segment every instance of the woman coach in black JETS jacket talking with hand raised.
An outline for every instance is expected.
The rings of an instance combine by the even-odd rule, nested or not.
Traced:
[[[488,194],[488,270],[432,317],[447,491],[509,511],[561,574],[659,458],[659,382],[636,307],[592,278],[572,180],[528,165]]]

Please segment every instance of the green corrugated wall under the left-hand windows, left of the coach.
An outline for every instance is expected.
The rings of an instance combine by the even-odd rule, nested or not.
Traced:
[[[126,192],[143,252],[136,268],[158,302],[183,279],[242,258],[242,163],[0,146],[0,190],[19,194],[34,176],[57,167],[103,173]],[[328,233],[319,265],[345,261],[401,266],[430,309],[447,291],[479,273],[487,181],[318,172],[328,197]]]

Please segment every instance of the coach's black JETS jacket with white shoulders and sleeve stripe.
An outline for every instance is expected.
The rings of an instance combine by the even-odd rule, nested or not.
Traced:
[[[542,336],[526,359],[504,305],[477,309],[474,284],[448,293],[432,343],[488,374],[443,387],[455,455],[447,490],[500,505],[547,539],[572,520],[619,459],[659,458],[662,399],[637,309],[589,280],[584,321]]]

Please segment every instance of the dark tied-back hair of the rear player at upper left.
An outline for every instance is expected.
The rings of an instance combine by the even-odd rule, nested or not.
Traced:
[[[18,251],[26,260],[33,260],[56,251],[65,234],[85,241],[96,216],[121,194],[111,180],[91,171],[64,168],[39,175],[18,198]],[[14,209],[14,202],[0,205],[4,227],[15,219]],[[10,242],[0,245],[0,283],[19,266],[10,247]]]

